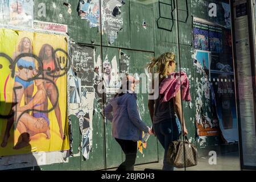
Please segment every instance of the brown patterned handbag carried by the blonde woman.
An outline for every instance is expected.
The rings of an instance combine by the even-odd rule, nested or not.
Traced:
[[[188,141],[175,140],[170,143],[167,151],[167,162],[176,168],[192,167],[197,165],[197,148]]]

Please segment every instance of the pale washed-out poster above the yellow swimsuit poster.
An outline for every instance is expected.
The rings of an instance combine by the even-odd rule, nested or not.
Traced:
[[[10,22],[17,27],[33,26],[34,2],[32,0],[9,0]]]

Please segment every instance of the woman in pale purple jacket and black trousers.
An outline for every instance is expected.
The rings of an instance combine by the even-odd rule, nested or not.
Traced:
[[[112,136],[125,153],[125,162],[117,168],[117,171],[134,170],[137,142],[142,139],[142,131],[151,134],[150,127],[146,126],[139,116],[137,96],[134,93],[136,82],[139,80],[135,80],[132,76],[124,77],[120,92],[115,94],[105,107],[105,116],[112,122]]]

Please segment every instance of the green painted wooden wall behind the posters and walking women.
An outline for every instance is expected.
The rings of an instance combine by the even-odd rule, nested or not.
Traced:
[[[192,60],[192,15],[199,18],[208,18],[208,11],[201,3],[207,1],[188,1],[188,16],[185,0],[179,0],[177,9],[179,22],[177,22],[176,11],[173,12],[174,22],[170,19],[159,19],[158,1],[135,1],[126,0],[125,5],[121,7],[123,18],[122,30],[118,32],[117,39],[113,44],[109,44],[108,35],[102,35],[100,28],[90,28],[89,22],[85,19],[80,19],[76,9],[79,5],[79,0],[34,0],[34,16],[36,20],[46,22],[55,22],[68,25],[68,35],[76,43],[90,44],[96,46],[96,57],[102,55],[103,59],[108,55],[108,59],[112,60],[117,57],[119,64],[119,51],[130,55],[130,73],[143,73],[146,63],[152,56],[159,56],[164,52],[174,52],[178,62],[177,68],[185,69],[187,75],[194,77],[194,80],[189,80],[191,83],[192,108],[188,103],[183,102],[183,111],[187,128],[189,130],[188,138],[192,138],[192,142],[199,145],[196,141],[195,127],[195,80],[200,75],[196,73],[196,68],[193,67]],[[68,13],[68,7],[63,5],[63,2],[71,4],[72,13]],[[162,1],[170,3],[170,1]],[[218,1],[212,1],[218,3]],[[39,16],[39,4],[45,3],[46,16]],[[52,3],[55,3],[56,9]],[[162,16],[171,18],[171,7],[160,6]],[[62,18],[60,18],[62,14]],[[187,18],[187,22],[184,22]],[[159,20],[158,20],[159,19]],[[156,23],[158,20],[158,24]],[[147,28],[143,28],[142,22],[146,22]],[[173,27],[172,27],[173,23]],[[159,27],[171,29],[172,31],[162,30]],[[178,32],[179,29],[179,32]],[[179,36],[178,36],[179,33]],[[178,44],[179,42],[179,44]],[[101,44],[102,43],[102,44]],[[180,55],[179,55],[180,52]],[[179,57],[180,56],[180,57]],[[178,61],[180,60],[180,61]],[[147,94],[138,94],[139,110],[143,121],[151,126],[150,116],[147,110]],[[94,103],[94,107],[98,109],[101,106]],[[79,152],[78,148],[81,142],[79,122],[75,117],[71,117],[73,127],[73,150],[74,154]],[[68,163],[52,164],[41,166],[45,170],[96,170],[104,168],[117,167],[124,160],[121,147],[115,142],[111,135],[111,123],[105,122],[100,113],[95,112],[93,115],[93,146],[88,160],[84,160],[82,155],[69,158]],[[104,130],[105,129],[105,130]],[[207,146],[219,144],[218,137],[208,137]],[[204,146],[204,147],[207,147]],[[80,148],[81,151],[81,148]],[[136,164],[157,162],[163,159],[163,147],[157,142],[155,137],[148,139],[147,148],[143,149],[143,154],[138,152]]]

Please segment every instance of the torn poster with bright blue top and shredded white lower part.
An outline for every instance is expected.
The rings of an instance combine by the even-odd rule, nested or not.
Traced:
[[[209,82],[210,52],[195,50],[193,63],[197,73],[200,73],[200,77],[196,79],[195,83],[197,135],[199,137],[218,135],[218,119],[216,107],[213,104],[216,98]]]

